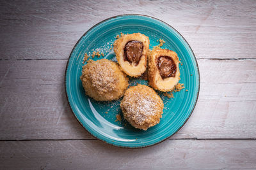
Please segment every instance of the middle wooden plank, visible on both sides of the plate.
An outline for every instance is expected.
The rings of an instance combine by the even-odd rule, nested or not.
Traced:
[[[67,60],[1,60],[0,139],[92,139],[67,104]],[[256,60],[198,60],[200,96],[180,138],[256,138]],[[11,66],[11,67],[10,67]],[[3,76],[2,76],[3,77]]]

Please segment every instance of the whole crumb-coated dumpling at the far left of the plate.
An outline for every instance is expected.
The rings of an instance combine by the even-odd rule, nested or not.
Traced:
[[[88,60],[80,78],[86,94],[95,101],[119,99],[129,85],[118,64],[108,59]]]

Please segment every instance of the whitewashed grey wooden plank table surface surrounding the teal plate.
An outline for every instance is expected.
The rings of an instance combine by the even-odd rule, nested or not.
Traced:
[[[93,138],[67,103],[77,40],[125,13],[159,18],[195,52],[200,95],[155,146]],[[0,169],[256,169],[256,1],[1,1]]]

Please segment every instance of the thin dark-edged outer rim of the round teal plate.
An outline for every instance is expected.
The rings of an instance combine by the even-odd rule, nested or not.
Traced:
[[[88,33],[90,32],[93,28],[97,27],[97,25],[99,24],[102,24],[104,22],[106,22],[107,20],[111,20],[113,18],[117,18],[117,17],[125,17],[125,16],[140,16],[140,17],[148,17],[148,18],[152,18],[154,20],[158,20],[159,22],[163,22],[164,24],[168,25],[168,27],[171,27],[174,31],[176,31],[180,37],[188,44],[191,52],[193,53],[193,57],[195,59],[195,62],[196,62],[196,71],[198,73],[198,92],[196,94],[196,101],[195,101],[195,104],[193,106],[193,109],[191,110],[191,112],[189,113],[189,116],[188,118],[186,118],[185,122],[175,131],[173,132],[172,135],[170,136],[167,136],[166,138],[162,139],[161,141],[157,141],[156,143],[152,143],[150,145],[143,145],[143,146],[120,146],[120,145],[115,145],[114,143],[109,143],[108,141],[104,141],[103,139],[100,139],[98,138],[97,136],[93,135],[92,132],[88,131],[88,129],[86,129],[86,127],[84,127],[84,125],[80,122],[80,120],[77,118],[76,114],[74,113],[74,111],[72,110],[72,107],[70,105],[70,101],[69,101],[69,97],[68,97],[68,94],[67,94],[67,69],[68,69],[68,64],[70,62],[70,57],[74,51],[74,49],[76,48],[76,46],[78,45],[78,43],[80,42],[80,40]],[[165,141],[166,139],[168,138],[171,138],[174,134],[176,134],[185,124],[186,122],[188,121],[188,119],[191,117],[193,111],[195,110],[195,106],[197,104],[197,101],[198,101],[198,96],[199,96],[199,92],[200,92],[200,71],[199,71],[199,67],[198,67],[198,62],[196,60],[196,57],[195,57],[195,53],[193,52],[191,46],[189,45],[188,41],[186,41],[186,39],[182,36],[182,34],[180,34],[179,31],[177,31],[177,29],[173,28],[170,24],[167,24],[166,22],[164,22],[163,20],[160,20],[158,18],[155,18],[155,17],[151,17],[149,15],[141,15],[141,14],[123,14],[123,15],[116,15],[116,16],[113,16],[113,17],[109,17],[109,18],[106,18],[100,22],[98,22],[97,24],[93,25],[92,27],[90,27],[90,29],[88,29],[86,32],[84,32],[84,34],[81,36],[81,38],[78,39],[78,41],[76,42],[76,45],[74,45],[74,47],[72,48],[72,51],[70,52],[70,55],[68,57],[68,61],[67,61],[67,66],[66,66],[66,69],[65,69],[65,94],[66,94],[66,97],[67,97],[67,101],[68,101],[68,106],[70,108],[70,110],[72,111],[74,117],[76,117],[76,120],[77,122],[79,122],[80,125],[82,125],[83,129],[85,129],[90,135],[92,135],[94,138],[96,139],[99,139],[99,141],[103,141],[104,143],[107,143],[108,145],[112,145],[112,146],[115,146],[115,147],[118,147],[118,148],[133,148],[133,149],[136,149],[136,148],[146,148],[146,147],[149,147],[149,146],[154,146],[154,145],[157,145],[163,141]],[[86,140],[86,139],[85,139]]]

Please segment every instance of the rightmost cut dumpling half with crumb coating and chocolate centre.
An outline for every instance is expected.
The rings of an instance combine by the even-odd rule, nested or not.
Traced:
[[[162,92],[173,90],[180,80],[177,53],[158,49],[152,50],[148,57],[148,84]]]

